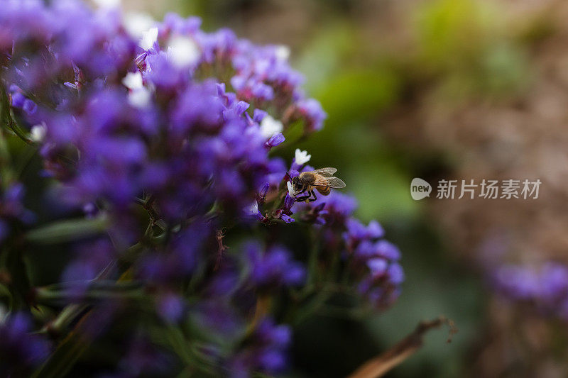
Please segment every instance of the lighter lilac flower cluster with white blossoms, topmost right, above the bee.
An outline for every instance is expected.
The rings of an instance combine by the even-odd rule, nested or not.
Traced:
[[[290,70],[290,51],[285,46],[253,45],[239,40],[229,29],[204,33],[199,18],[183,19],[176,14],[169,14],[151,30],[145,42],[149,55],[156,51],[155,38],[168,46],[176,65],[195,70],[197,77],[226,82],[239,100],[254,109],[270,108],[271,116],[261,123],[265,135],[278,133],[298,120],[304,123],[306,133],[322,128],[325,113],[317,101],[302,93],[303,78]],[[143,60],[138,62],[144,64]]]

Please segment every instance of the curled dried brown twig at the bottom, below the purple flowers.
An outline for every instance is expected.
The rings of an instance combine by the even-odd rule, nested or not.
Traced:
[[[422,347],[422,337],[432,328],[439,328],[443,324],[449,326],[447,343],[452,341],[452,335],[457,333],[457,328],[451,319],[440,316],[432,321],[421,321],[410,335],[400,340],[393,348],[368,360],[361,365],[349,378],[377,378],[390,371]]]

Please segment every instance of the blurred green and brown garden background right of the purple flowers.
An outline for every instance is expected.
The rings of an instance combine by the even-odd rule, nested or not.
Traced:
[[[388,377],[566,377],[566,323],[501,298],[492,269],[568,263],[568,3],[555,0],[124,0],[290,46],[328,113],[299,146],[337,167],[403,251],[407,280],[372,318],[330,313],[296,330],[294,377],[342,377],[444,315]],[[293,153],[289,152],[289,156]],[[413,201],[410,181],[540,179],[535,200]],[[434,189],[435,190],[435,189]]]

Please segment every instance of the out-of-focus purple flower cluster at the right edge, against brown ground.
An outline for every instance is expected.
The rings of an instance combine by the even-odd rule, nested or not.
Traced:
[[[496,291],[528,304],[545,316],[568,320],[568,267],[548,262],[542,267],[504,265],[492,277]]]

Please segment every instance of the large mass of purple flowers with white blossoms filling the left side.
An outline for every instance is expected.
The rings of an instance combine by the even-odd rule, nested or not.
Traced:
[[[302,93],[287,48],[253,45],[231,30],[206,33],[198,18],[175,14],[139,39],[136,30],[119,11],[74,0],[9,0],[0,9],[2,105],[11,121],[4,132],[38,148],[61,201],[84,211],[90,222],[77,222],[77,235],[91,235],[80,227],[93,225],[98,233],[77,237],[61,282],[22,302],[50,311],[85,302],[105,315],[65,307],[46,329],[72,324],[75,314],[91,338],[104,337],[101,318],[108,324],[127,305],[143,312],[149,303],[158,316],[148,328],[159,319],[174,332],[178,341],[166,349],[182,362],[192,355],[204,372],[246,377],[288,365],[291,329],[277,322],[293,314],[275,311],[271,299],[317,295],[305,285],[309,275],[320,277],[317,287],[338,281],[314,269],[343,267],[354,295],[391,304],[403,272],[381,226],[356,221],[356,201],[343,194],[298,204],[288,184],[312,169],[310,155],[296,150],[290,169],[269,156],[290,128],[308,135],[325,118]],[[27,218],[21,187],[7,189],[0,237],[5,220]],[[291,226],[311,235],[320,264],[307,269],[279,238]],[[34,240],[41,243],[38,233]],[[143,329],[133,340],[144,344],[131,343],[117,371],[162,355],[163,338]],[[191,350],[180,350],[190,340]]]

